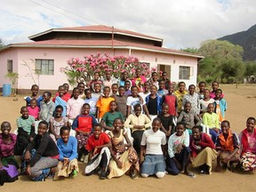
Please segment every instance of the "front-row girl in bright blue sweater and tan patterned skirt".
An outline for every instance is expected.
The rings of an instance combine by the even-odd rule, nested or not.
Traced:
[[[53,180],[59,180],[60,177],[76,176],[79,172],[77,164],[77,140],[69,136],[70,128],[62,126],[60,128],[60,139],[57,140],[60,158]]]

